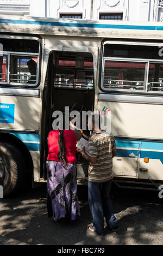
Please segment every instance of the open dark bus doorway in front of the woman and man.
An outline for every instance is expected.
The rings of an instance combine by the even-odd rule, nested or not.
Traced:
[[[51,52],[49,56],[47,71],[47,92],[45,97],[46,118],[45,138],[53,129],[52,123],[54,111],[80,112],[80,128],[82,128],[82,111],[93,111],[95,99],[94,76],[93,76],[93,56],[89,52]],[[86,135],[90,135],[89,130],[83,130]],[[45,141],[45,154],[47,156],[47,146]],[[77,176],[87,177],[89,163],[82,159],[77,153]],[[44,164],[45,166],[45,164]],[[45,168],[44,168],[45,169]],[[45,173],[45,171],[44,171]],[[44,175],[46,179],[46,174]]]

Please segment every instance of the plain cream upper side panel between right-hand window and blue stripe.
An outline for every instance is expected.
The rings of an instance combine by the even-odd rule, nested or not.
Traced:
[[[133,138],[162,139],[163,120],[160,114],[163,112],[163,105],[98,102],[98,110],[102,110],[104,106],[111,111],[112,134]]]

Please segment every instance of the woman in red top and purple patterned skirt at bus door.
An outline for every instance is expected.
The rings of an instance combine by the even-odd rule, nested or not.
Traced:
[[[51,130],[48,135],[48,217],[76,219],[80,216],[76,182],[76,140],[73,130]]]

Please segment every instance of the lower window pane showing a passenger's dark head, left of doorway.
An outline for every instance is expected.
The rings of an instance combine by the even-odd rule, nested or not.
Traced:
[[[10,55],[9,82],[36,84],[37,57]]]

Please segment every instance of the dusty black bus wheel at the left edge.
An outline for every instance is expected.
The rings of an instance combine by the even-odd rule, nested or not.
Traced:
[[[24,185],[24,169],[21,152],[7,142],[0,142],[0,182],[3,186],[3,197]]]

